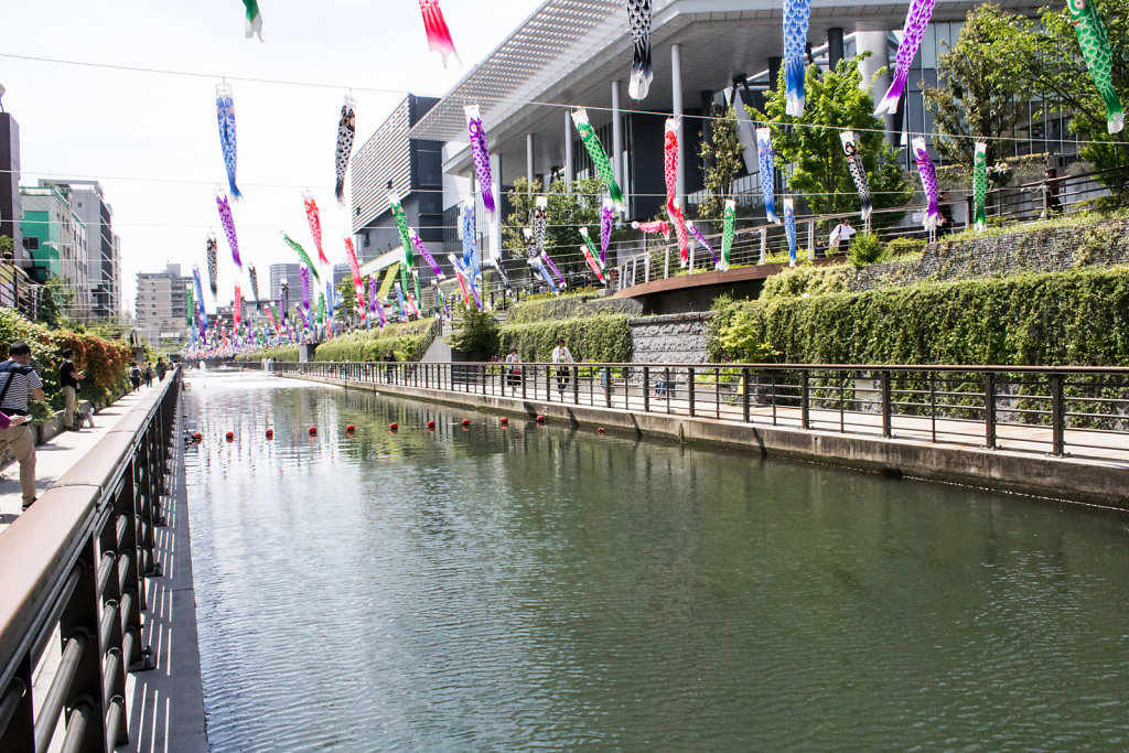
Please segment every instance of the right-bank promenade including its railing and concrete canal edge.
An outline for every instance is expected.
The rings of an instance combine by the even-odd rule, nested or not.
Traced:
[[[1120,394],[1121,370],[583,364],[570,365],[564,379],[548,364],[522,365],[510,378],[496,362],[273,370],[511,417],[1129,510],[1129,431],[1119,430],[1129,405],[1102,397]],[[725,370],[739,382],[725,384]],[[1097,420],[1113,428],[1093,428]]]

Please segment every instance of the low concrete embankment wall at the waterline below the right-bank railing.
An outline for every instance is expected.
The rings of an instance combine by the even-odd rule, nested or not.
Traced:
[[[953,445],[882,439],[824,431],[802,431],[752,423],[695,419],[662,413],[544,403],[399,385],[375,385],[315,376],[289,378],[333,384],[434,404],[466,406],[572,426],[605,427],[637,437],[656,437],[751,450],[863,471],[1048,497],[1129,510],[1129,467],[1109,463],[1053,458],[1035,454],[987,450]]]

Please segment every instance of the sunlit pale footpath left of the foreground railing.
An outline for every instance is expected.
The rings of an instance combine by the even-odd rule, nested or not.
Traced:
[[[156,383],[155,383],[156,384]],[[134,405],[157,387],[141,387],[94,417],[94,428],[89,422],[80,431],[64,431],[45,445],[35,448],[35,488],[45,491],[63,476],[84,455],[90,452]],[[19,466],[15,463],[0,465],[0,532],[11,525],[23,508],[19,491]]]

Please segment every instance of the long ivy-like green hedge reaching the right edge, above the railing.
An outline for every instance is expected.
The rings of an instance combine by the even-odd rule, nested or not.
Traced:
[[[770,298],[724,307],[710,357],[782,364],[1129,366],[1129,268]]]

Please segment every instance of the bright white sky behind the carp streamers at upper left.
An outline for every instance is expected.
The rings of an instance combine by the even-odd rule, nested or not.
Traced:
[[[464,65],[444,69],[428,50],[418,0],[260,0],[264,43],[245,38],[240,0],[7,0],[0,85],[5,111],[20,126],[20,183],[102,184],[122,238],[129,313],[138,272],[173,263],[191,274],[198,264],[207,275],[209,233],[220,238],[220,301],[229,303],[237,282],[248,287],[246,272],[230,262],[216,209],[216,191],[227,190],[216,86],[230,77],[245,195],[234,208],[239,251],[269,295],[268,268],[296,259],[281,230],[316,259],[306,190],[321,209],[326,255],[344,261],[348,211],[338,208],[333,184],[338,120],[350,88],[358,102],[356,154],[406,93],[445,94],[540,5],[443,0]]]

